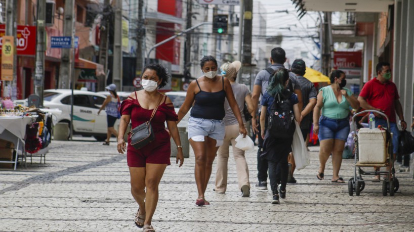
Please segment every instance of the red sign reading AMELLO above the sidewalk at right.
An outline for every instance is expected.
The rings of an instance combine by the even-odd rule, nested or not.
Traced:
[[[362,53],[334,52],[334,68],[345,72],[347,78],[360,78],[362,75]]]

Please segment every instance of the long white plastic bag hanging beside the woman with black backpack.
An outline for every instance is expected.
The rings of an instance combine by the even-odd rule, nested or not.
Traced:
[[[293,134],[292,151],[295,158],[296,169],[301,170],[309,165],[309,154],[308,149],[303,141],[301,127],[295,120],[295,133]]]

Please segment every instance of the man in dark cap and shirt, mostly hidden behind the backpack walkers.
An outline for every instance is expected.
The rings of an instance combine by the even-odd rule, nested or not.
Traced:
[[[291,71],[295,73],[298,77],[299,85],[301,86],[302,90],[302,100],[303,100],[303,108],[301,113],[301,131],[303,135],[303,139],[306,142],[306,137],[309,134],[310,127],[312,124],[312,110],[316,105],[316,96],[318,92],[308,79],[303,77],[306,71],[306,64],[303,60],[295,60],[292,64]],[[296,183],[295,177],[293,177],[293,173],[295,171],[295,159],[293,154],[289,154],[288,157],[288,165],[289,165],[289,175],[287,177],[288,183]]]

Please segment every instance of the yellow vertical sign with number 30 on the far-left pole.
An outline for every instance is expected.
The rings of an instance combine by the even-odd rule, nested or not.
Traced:
[[[2,80],[13,80],[13,54],[14,38],[13,36],[3,36],[2,47]]]

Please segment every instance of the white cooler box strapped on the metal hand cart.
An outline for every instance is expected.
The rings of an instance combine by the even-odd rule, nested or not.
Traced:
[[[361,128],[358,132],[358,155],[361,164],[385,163],[387,158],[385,130]]]

